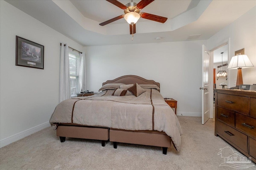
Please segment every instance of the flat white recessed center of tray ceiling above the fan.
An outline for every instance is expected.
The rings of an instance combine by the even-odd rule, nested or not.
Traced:
[[[131,0],[119,1],[124,5],[131,2]],[[100,23],[124,14],[122,9],[104,0],[71,0],[70,2],[82,13],[84,17]],[[133,2],[138,4],[140,0],[133,0]],[[148,12],[172,19],[196,7],[199,2],[200,0],[165,0],[163,6],[163,3],[160,2],[160,0],[155,0],[154,2],[150,3],[150,5],[143,8],[142,12]],[[140,22],[143,21],[148,20],[141,18]],[[126,21],[118,20],[114,23],[126,23]]]

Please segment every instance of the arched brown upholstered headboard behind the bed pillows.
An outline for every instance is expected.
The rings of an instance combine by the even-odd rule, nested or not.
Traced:
[[[135,76],[135,75],[126,75],[126,76],[121,76],[118,77],[114,80],[107,80],[106,82],[102,83],[102,86],[104,84],[108,83],[124,83],[124,84],[154,84],[160,88],[160,83],[155,82],[154,80],[146,80],[145,78],[142,78],[140,76]],[[160,90],[159,90],[160,92]]]

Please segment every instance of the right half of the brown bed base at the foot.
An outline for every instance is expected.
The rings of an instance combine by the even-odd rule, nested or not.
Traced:
[[[172,139],[166,133],[159,131],[127,131],[110,128],[109,140],[113,142],[115,149],[118,142],[162,147],[163,154],[167,154],[168,147],[172,147]]]

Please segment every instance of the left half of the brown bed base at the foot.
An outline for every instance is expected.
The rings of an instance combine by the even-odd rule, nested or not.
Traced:
[[[95,139],[100,140],[102,147],[105,147],[109,139],[109,128],[60,124],[56,135],[60,137],[60,142],[65,142],[66,137]]]

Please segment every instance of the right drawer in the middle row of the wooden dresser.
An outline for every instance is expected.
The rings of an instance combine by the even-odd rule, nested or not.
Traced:
[[[236,113],[236,128],[256,137],[256,119]]]

